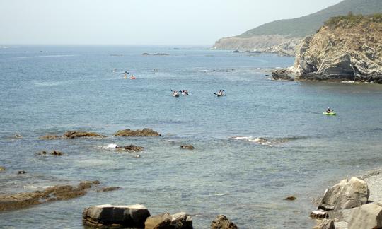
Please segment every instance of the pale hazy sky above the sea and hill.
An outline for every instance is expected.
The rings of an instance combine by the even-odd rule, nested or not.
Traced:
[[[212,45],[341,0],[0,0],[0,45]]]

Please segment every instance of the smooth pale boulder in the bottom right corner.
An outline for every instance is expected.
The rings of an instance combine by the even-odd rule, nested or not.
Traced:
[[[330,218],[346,222],[348,229],[382,228],[382,201],[328,213]]]

